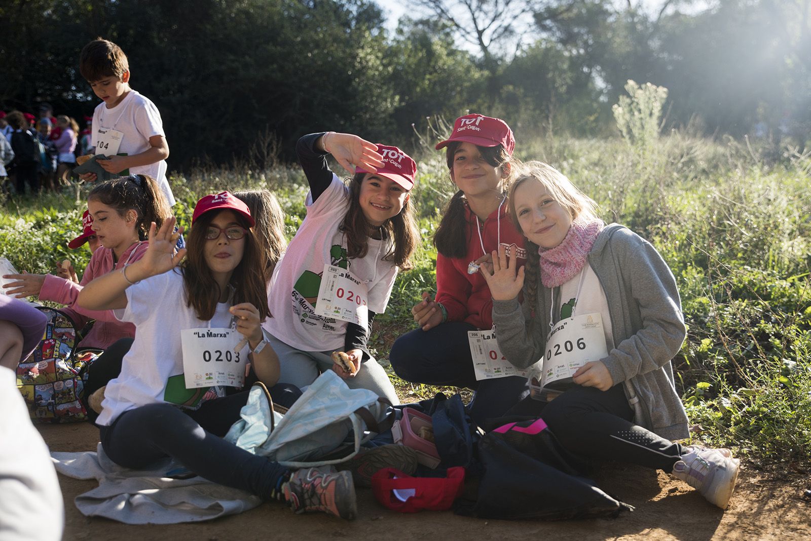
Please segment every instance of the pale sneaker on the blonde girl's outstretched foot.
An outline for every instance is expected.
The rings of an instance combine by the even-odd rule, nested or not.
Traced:
[[[701,492],[711,504],[727,509],[740,470],[740,458],[729,449],[684,447],[685,454],[673,465],[673,475]]]

